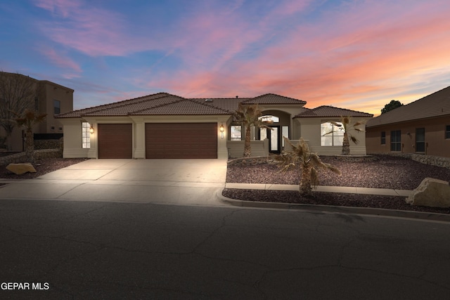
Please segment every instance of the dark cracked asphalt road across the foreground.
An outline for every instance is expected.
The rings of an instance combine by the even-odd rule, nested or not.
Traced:
[[[449,299],[450,223],[0,200],[0,299]]]

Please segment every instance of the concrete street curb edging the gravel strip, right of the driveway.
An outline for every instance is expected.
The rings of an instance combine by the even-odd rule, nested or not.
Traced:
[[[302,209],[309,211],[326,211],[340,214],[366,214],[372,216],[390,216],[395,218],[418,219],[426,221],[450,222],[450,215],[436,214],[421,211],[404,211],[395,209],[374,209],[370,207],[337,207],[332,205],[297,204],[281,202],[255,202],[248,200],[237,200],[222,195],[223,190],[217,193],[217,198],[224,204],[235,207],[253,207],[264,209]]]

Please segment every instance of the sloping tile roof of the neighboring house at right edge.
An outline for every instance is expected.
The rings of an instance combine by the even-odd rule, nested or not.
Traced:
[[[407,105],[397,107],[390,112],[385,112],[368,121],[366,126],[373,127],[445,115],[450,116],[450,86]]]

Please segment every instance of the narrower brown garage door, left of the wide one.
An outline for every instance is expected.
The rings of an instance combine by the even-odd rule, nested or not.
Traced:
[[[131,124],[98,124],[98,158],[132,158]]]

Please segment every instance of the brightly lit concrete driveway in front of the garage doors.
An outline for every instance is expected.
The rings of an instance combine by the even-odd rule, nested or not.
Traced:
[[[0,199],[223,205],[226,159],[89,159],[0,188]]]

